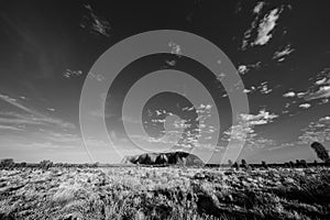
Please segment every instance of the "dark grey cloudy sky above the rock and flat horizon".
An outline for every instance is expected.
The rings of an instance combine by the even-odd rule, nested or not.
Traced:
[[[228,143],[243,139],[239,160],[249,163],[314,162],[314,141],[330,150],[328,26],[327,1],[3,1],[0,158],[119,163],[145,151],[188,151],[220,163]],[[197,45],[168,42],[172,51],[130,63],[96,98],[105,112],[102,105],[89,112],[92,135],[85,135],[84,84],[109,79],[92,72],[97,61],[155,30],[217,45],[243,84],[227,90],[226,73],[185,56]],[[231,90],[249,100],[249,112],[234,116],[238,124]],[[102,120],[111,143],[94,127]]]

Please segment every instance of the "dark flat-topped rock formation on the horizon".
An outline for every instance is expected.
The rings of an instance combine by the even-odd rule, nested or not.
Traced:
[[[144,165],[185,165],[204,166],[204,162],[196,155],[187,152],[169,153],[146,153],[135,156],[127,156],[122,164],[144,164]]]

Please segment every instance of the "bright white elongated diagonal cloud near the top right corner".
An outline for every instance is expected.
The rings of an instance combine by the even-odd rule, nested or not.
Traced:
[[[274,9],[258,24],[257,36],[253,45],[265,45],[273,36],[272,31],[276,26],[280,10]]]

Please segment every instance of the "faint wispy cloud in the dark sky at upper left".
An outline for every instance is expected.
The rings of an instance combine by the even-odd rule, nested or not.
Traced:
[[[88,14],[82,18],[80,26],[82,29],[88,30],[91,33],[97,33],[102,36],[109,37],[111,31],[110,23],[101,16],[98,16],[96,12],[91,9],[90,4],[86,4],[84,7],[85,9],[87,9]]]

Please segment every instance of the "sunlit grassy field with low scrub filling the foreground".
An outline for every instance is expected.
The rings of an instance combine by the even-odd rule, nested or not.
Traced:
[[[0,219],[330,219],[330,168],[0,170]]]

